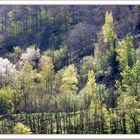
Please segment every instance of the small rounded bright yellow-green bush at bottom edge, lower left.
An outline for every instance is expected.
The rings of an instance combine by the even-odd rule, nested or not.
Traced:
[[[22,123],[17,123],[13,128],[14,134],[32,134],[31,129]]]

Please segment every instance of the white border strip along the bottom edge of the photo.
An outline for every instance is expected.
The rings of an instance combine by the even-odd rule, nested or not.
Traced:
[[[140,135],[127,135],[127,134],[68,134],[68,135],[62,135],[62,134],[32,134],[32,135],[0,135],[0,140],[45,140],[45,139],[54,139],[54,140],[140,140]]]

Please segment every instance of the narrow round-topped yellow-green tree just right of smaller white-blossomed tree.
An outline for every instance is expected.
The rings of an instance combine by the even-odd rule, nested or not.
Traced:
[[[42,88],[40,95],[40,108],[41,111],[46,108],[46,110],[53,110],[53,106],[50,106],[54,103],[53,87],[54,87],[54,65],[52,58],[48,55],[42,55],[39,62],[39,73],[42,76]],[[46,101],[45,101],[46,100]],[[44,108],[43,108],[44,107]]]

